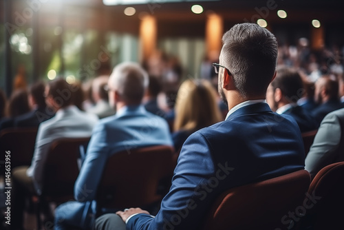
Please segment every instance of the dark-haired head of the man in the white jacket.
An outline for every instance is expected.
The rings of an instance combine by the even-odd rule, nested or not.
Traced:
[[[67,107],[73,103],[72,91],[70,85],[65,79],[58,78],[54,81],[50,81],[48,96],[52,96],[58,107]]]

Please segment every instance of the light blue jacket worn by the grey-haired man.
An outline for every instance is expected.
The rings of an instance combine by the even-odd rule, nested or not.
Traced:
[[[116,115],[101,119],[92,132],[74,185],[75,199],[94,200],[107,158],[112,154],[152,145],[173,145],[169,125],[142,105],[122,107]]]

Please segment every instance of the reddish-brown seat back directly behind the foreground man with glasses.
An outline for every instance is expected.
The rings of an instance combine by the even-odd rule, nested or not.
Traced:
[[[310,185],[308,171],[300,170],[225,191],[206,216],[205,229],[287,229],[288,211],[302,205]],[[284,219],[283,219],[284,218]]]

